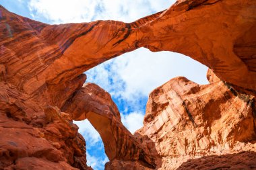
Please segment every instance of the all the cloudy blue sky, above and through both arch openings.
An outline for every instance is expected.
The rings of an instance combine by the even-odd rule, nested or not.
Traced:
[[[0,0],[9,11],[48,24],[91,22],[112,19],[133,22],[140,17],[162,11],[173,0]],[[123,124],[135,132],[141,128],[148,94],[177,76],[206,84],[207,67],[182,54],[150,52],[140,48],[108,60],[87,71],[87,82],[108,91],[121,112]],[[86,138],[88,165],[104,169],[108,161],[102,140],[87,121],[75,122]]]

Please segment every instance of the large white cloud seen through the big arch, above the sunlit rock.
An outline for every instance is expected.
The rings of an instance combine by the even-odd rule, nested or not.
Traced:
[[[197,83],[207,83],[206,67],[174,52],[150,52],[141,48],[114,61],[115,70],[125,81],[125,97],[141,92],[148,95],[154,88],[173,77],[185,76]],[[204,72],[205,71],[205,72]]]

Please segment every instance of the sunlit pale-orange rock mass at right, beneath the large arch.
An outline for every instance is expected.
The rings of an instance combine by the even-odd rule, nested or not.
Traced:
[[[255,96],[239,93],[223,81],[197,85],[177,77],[150,93],[143,128],[137,135],[146,135],[156,144],[162,157],[158,167],[176,169],[188,159],[241,151],[252,151],[255,160],[255,123]],[[238,169],[237,161],[230,166],[233,163]]]

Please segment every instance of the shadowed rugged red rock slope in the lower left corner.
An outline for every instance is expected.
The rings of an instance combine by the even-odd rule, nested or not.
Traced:
[[[69,114],[43,109],[8,83],[0,87],[0,169],[90,169],[86,143]]]

